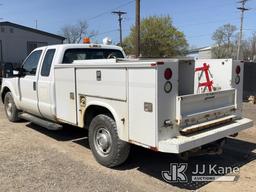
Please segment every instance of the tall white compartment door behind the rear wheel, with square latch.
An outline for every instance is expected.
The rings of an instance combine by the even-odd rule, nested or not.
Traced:
[[[129,139],[155,147],[156,130],[156,71],[129,70]]]

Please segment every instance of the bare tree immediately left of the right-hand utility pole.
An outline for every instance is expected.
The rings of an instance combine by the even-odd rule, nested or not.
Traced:
[[[216,58],[233,58],[236,50],[235,31],[236,26],[225,24],[219,27],[212,36],[215,41],[213,55]]]

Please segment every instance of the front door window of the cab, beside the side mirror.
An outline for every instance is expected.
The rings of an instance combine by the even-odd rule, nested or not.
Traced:
[[[42,54],[42,50],[34,51],[24,62],[22,66],[23,74],[36,75],[37,66]]]

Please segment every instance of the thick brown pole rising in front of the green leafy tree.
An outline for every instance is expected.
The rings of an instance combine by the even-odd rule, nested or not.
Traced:
[[[136,36],[135,36],[135,56],[140,56],[140,0],[136,0]]]

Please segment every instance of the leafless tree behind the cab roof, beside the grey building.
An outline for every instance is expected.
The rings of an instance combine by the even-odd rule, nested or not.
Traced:
[[[76,24],[64,26],[61,34],[66,38],[65,43],[80,43],[83,37],[92,37],[96,33],[88,30],[86,21],[79,21]]]

